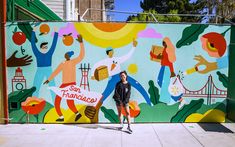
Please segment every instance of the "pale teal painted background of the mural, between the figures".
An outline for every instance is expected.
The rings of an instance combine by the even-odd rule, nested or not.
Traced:
[[[39,36],[38,38],[38,48],[39,48],[39,43],[43,41],[49,42],[48,47],[51,46],[52,42],[52,30],[53,27],[56,26],[58,28],[65,27],[66,22],[48,22],[47,23],[51,31],[48,35],[43,35]],[[183,30],[190,25],[187,24],[148,24],[147,28],[154,28],[157,32],[161,33],[163,37],[169,37],[171,41],[173,42],[174,45],[180,40],[182,36]],[[16,24],[11,24],[8,23],[6,27],[6,32],[7,32],[7,39],[6,39],[6,44],[7,44],[7,57],[10,57],[11,54],[15,51],[18,50],[17,56],[22,56],[20,53],[20,46],[15,45],[12,41],[12,35],[13,35],[13,30],[17,27]],[[199,35],[199,38],[206,33],[209,32],[217,32],[217,33],[223,33],[226,29],[228,29],[230,26],[216,26],[216,25],[210,25],[208,28],[205,29],[205,31]],[[147,29],[146,28],[146,29]],[[19,30],[19,29],[18,29]],[[36,35],[39,35],[39,31],[36,32]],[[227,42],[227,45],[229,45],[230,42],[230,31],[226,33],[225,39]],[[127,70],[128,66],[130,64],[136,64],[138,66],[138,72],[134,75],[129,74],[132,76],[134,79],[136,79],[146,91],[149,89],[148,82],[149,80],[153,80],[155,83],[155,86],[158,87],[156,83],[156,76],[159,73],[160,70],[160,64],[153,62],[150,60],[149,57],[149,51],[151,50],[152,45],[162,45],[162,39],[151,39],[151,38],[137,38],[138,41],[138,46],[132,55],[132,57],[127,60],[123,65],[122,65],[122,70]],[[105,59],[107,57],[105,53],[105,49],[95,46],[93,44],[90,44],[86,40],[84,40],[84,45],[85,45],[85,58],[82,60],[81,63],[90,63],[90,65],[94,65],[96,62]],[[108,45],[108,42],[107,42]],[[34,80],[34,75],[36,72],[36,58],[32,52],[30,42],[26,40],[26,42],[22,45],[22,47],[26,50],[25,54],[32,55],[33,62],[29,66],[24,66],[21,67],[23,69],[23,74],[27,80],[27,88],[31,88],[33,86],[33,80]],[[122,56],[126,54],[132,47],[132,43],[129,45],[116,48],[114,50],[115,54],[114,56]],[[67,51],[74,51],[75,56],[79,54],[80,48],[79,48],[79,43],[74,40],[74,43],[72,46],[65,46],[62,43],[62,38],[59,37],[58,42],[57,42],[57,47],[53,55],[52,59],[52,69],[54,70],[63,60],[64,60],[64,53]],[[227,51],[228,52],[228,51]],[[227,55],[227,52],[225,55]],[[179,71],[185,71],[189,68],[194,67],[194,65],[197,63],[195,60],[193,60],[193,57],[195,55],[202,55],[204,58],[206,58],[210,62],[215,62],[215,58],[210,57],[201,47],[201,41],[198,39],[197,41],[193,42],[189,46],[183,46],[181,48],[176,48],[176,62],[174,63],[174,68],[175,68],[175,73],[178,74]],[[78,69],[80,64],[77,65],[77,84],[80,84],[81,80],[81,71]],[[15,74],[15,69],[14,67],[8,67],[7,68],[7,80],[8,80],[8,94],[12,92],[11,88],[11,79],[13,78]],[[128,70],[127,70],[128,71]],[[199,74],[199,73],[194,73],[188,76],[185,76],[183,83],[184,85],[190,89],[190,90],[198,90],[204,86],[206,83],[208,76],[212,75],[213,77],[213,82],[219,89],[226,89],[222,83],[218,80],[218,76],[216,74],[216,71],[212,71],[208,74]],[[221,73],[224,73],[228,75],[228,68],[220,70]],[[91,77],[91,73],[89,73],[89,77]],[[45,79],[46,80],[46,79]],[[62,76],[59,74],[57,77],[55,77],[55,83],[56,86],[59,87],[61,84]],[[91,91],[96,91],[99,93],[102,93],[103,90],[105,89],[105,86],[108,82],[108,79],[102,80],[102,81],[95,81],[91,80],[89,78],[90,82],[90,89]],[[159,88],[159,87],[158,87]],[[159,88],[160,90],[160,88]],[[115,102],[112,99],[113,94],[109,96],[109,98],[103,103],[103,106],[105,106],[107,109],[113,109],[116,112],[116,106]],[[50,92],[47,89],[47,86],[42,85],[40,89],[40,96],[41,98],[44,98],[47,102],[51,103],[53,105],[54,98],[50,97]],[[134,89],[132,88],[132,95],[131,99],[135,100],[140,103],[145,103],[144,99],[142,96]],[[195,98],[197,99],[197,98]],[[217,102],[222,102],[224,99],[217,99]],[[189,102],[189,101],[188,101]],[[67,109],[67,105],[65,101],[62,101],[63,108]],[[162,114],[164,115],[164,114]],[[100,111],[99,113],[99,122],[109,122],[108,119],[105,118],[104,114]]]

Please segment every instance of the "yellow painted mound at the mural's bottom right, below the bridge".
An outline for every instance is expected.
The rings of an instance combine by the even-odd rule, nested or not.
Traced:
[[[208,110],[204,114],[193,113],[185,122],[225,122],[225,113],[218,109]]]

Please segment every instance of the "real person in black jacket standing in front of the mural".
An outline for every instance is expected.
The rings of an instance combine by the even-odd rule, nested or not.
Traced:
[[[127,81],[127,73],[126,71],[120,72],[120,78],[121,80],[116,84],[115,87],[115,93],[113,95],[113,99],[116,102],[117,111],[118,111],[118,118],[120,121],[121,129],[123,128],[123,122],[122,122],[122,107],[124,108],[127,116],[127,123],[128,127],[127,130],[132,132],[130,127],[130,109],[129,109],[129,100],[131,96],[131,84]]]

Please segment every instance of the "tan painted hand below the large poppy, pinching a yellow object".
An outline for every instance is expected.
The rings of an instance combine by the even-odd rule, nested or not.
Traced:
[[[216,62],[208,62],[201,55],[196,55],[194,57],[194,60],[198,61],[198,63],[195,65],[196,67],[199,67],[201,65],[205,66],[205,68],[203,70],[198,70],[198,72],[201,73],[201,74],[206,74],[206,73],[208,73],[210,71],[218,69]]]

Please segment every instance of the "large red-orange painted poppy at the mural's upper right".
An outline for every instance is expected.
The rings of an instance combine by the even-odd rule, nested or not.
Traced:
[[[223,35],[211,32],[201,37],[202,48],[209,56],[220,58],[226,51],[226,40]]]

